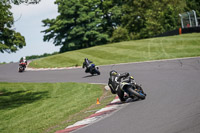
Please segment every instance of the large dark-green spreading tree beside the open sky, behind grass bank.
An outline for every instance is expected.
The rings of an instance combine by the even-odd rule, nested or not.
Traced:
[[[44,41],[53,40],[61,45],[60,52],[91,47],[108,42],[108,34],[101,23],[103,13],[99,0],[56,0],[58,12],[56,19],[43,20],[48,29]]]

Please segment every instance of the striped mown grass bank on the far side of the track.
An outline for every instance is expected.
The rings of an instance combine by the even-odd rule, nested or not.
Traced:
[[[200,33],[113,43],[41,58],[30,67],[81,66],[84,58],[96,65],[200,56]]]

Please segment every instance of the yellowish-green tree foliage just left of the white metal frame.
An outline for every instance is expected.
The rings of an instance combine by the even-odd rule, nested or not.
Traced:
[[[184,0],[137,0],[123,5],[122,26],[138,38],[152,37],[176,29]]]

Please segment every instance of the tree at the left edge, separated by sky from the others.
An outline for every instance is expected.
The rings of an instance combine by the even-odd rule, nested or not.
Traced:
[[[0,52],[16,52],[26,45],[25,38],[12,29],[14,24],[13,14],[10,12],[11,6],[4,1],[0,2]]]

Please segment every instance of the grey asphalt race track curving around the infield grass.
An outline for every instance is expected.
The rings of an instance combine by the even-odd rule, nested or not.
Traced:
[[[147,93],[75,133],[200,133],[200,57],[100,66],[100,76],[84,69],[25,71],[18,64],[0,65],[0,82],[108,81],[109,71],[130,72]]]

